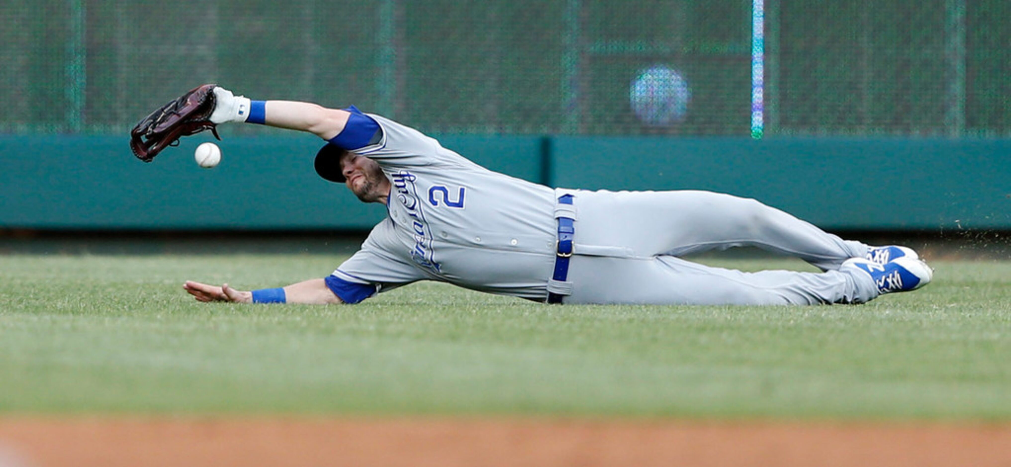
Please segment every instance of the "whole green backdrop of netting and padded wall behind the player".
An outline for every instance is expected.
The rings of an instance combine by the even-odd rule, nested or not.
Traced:
[[[726,191],[844,230],[1011,229],[1007,0],[6,0],[0,18],[7,229],[381,217],[314,178],[304,135],[222,128],[209,173],[203,135],[133,160],[133,123],[204,82],[355,104],[549,185]]]

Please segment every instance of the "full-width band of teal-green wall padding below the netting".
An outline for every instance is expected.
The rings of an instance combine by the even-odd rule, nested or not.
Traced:
[[[551,186],[704,189],[832,229],[1011,229],[1011,139],[442,135],[493,170]],[[315,175],[312,137],[187,138],[151,163],[120,136],[0,135],[0,228],[348,229],[385,215]]]

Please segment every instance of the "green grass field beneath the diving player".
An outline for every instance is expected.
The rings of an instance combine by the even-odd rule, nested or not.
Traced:
[[[0,256],[0,413],[1011,419],[1011,263],[856,306],[548,306],[422,283],[198,303],[324,255]],[[712,260],[742,269],[778,260]]]

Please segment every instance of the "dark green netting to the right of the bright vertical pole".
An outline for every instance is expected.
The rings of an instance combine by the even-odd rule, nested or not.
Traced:
[[[1011,129],[1007,0],[786,0],[778,14],[778,133]]]

